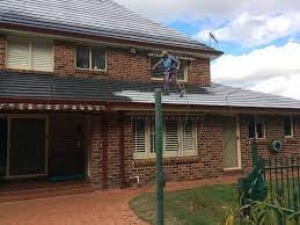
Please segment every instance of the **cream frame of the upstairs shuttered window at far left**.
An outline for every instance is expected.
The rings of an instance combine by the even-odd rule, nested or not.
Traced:
[[[8,65],[8,51],[9,51],[9,44],[8,44],[8,42],[9,41],[26,41],[26,42],[28,42],[28,66],[29,66],[29,68],[28,69],[24,69],[24,68],[16,68],[16,67],[9,67],[9,65]],[[33,59],[32,59],[32,45],[33,45],[33,43],[45,43],[45,44],[49,44],[49,45],[51,45],[51,69],[50,70],[35,70],[35,69],[33,69],[34,68],[34,66],[33,66]],[[15,69],[15,70],[32,70],[32,71],[41,71],[41,72],[49,72],[49,73],[51,73],[51,72],[53,72],[54,71],[54,47],[53,47],[53,41],[52,40],[47,40],[47,39],[45,39],[45,40],[37,40],[37,38],[34,38],[34,37],[32,37],[32,38],[30,38],[30,37],[15,37],[15,36],[8,36],[7,37],[7,39],[6,39],[6,52],[5,52],[6,54],[6,57],[5,57],[5,66],[6,66],[6,68],[8,68],[8,69]]]

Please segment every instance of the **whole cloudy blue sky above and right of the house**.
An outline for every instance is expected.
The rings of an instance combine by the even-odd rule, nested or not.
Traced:
[[[300,99],[299,0],[115,0],[223,51],[212,81]]]

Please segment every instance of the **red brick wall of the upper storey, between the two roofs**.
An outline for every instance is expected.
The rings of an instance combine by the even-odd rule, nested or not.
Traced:
[[[7,68],[6,65],[6,39],[4,34],[0,34],[0,70],[12,70]],[[82,77],[92,76],[99,79],[127,79],[145,82],[151,80],[151,58],[148,55],[149,52],[137,51],[136,53],[131,53],[129,48],[105,47],[106,70],[96,71],[76,68],[76,46],[78,45],[72,42],[54,40],[53,72],[47,73]],[[28,73],[28,70],[22,70],[21,72]],[[32,70],[30,72],[41,73],[41,71]],[[189,84],[210,86],[210,60],[192,58],[187,66],[187,82]]]

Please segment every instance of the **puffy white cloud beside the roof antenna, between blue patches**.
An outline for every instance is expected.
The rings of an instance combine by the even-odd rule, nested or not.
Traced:
[[[289,37],[300,31],[299,12],[288,12],[280,15],[241,14],[226,26],[216,29],[215,36],[219,41],[235,42],[241,45],[256,46],[270,43],[273,40]],[[195,37],[205,40],[208,30],[202,30]]]

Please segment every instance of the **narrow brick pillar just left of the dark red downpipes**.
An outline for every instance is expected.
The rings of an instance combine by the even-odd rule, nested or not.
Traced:
[[[95,189],[102,189],[102,116],[90,117],[90,179]]]

